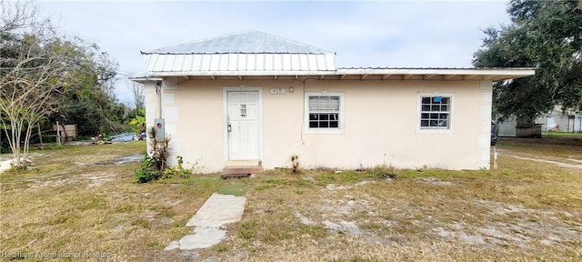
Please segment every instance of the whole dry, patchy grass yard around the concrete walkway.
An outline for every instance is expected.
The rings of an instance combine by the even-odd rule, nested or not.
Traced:
[[[493,171],[396,170],[398,178],[385,179],[375,170],[304,170],[298,176],[271,170],[240,180],[207,175],[146,185],[132,183],[136,164],[91,164],[140,153],[143,144],[66,147],[41,152],[37,170],[0,175],[0,256],[577,261],[582,169],[524,159],[582,164],[577,143],[565,137],[501,139],[499,169]],[[246,192],[248,199],[242,220],[226,226],[227,239],[206,249],[163,251],[191,233],[186,221],[216,191]]]

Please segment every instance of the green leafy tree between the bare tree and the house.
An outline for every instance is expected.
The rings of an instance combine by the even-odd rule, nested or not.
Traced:
[[[119,108],[112,91],[118,65],[99,46],[80,38],[65,41],[62,47],[75,81],[60,87],[59,108],[50,119],[76,124],[80,136],[121,131],[125,108]]]

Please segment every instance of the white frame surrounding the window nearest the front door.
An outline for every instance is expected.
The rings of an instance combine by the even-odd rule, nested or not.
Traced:
[[[337,112],[337,127],[309,127],[309,97],[310,96],[338,96],[339,111]],[[344,92],[305,92],[304,100],[304,132],[305,134],[344,134],[344,115],[346,115]]]

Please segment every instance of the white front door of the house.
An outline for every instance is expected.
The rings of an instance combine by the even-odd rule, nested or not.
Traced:
[[[227,91],[228,160],[259,159],[258,91]]]

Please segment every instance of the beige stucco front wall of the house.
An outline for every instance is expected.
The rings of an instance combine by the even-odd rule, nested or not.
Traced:
[[[478,169],[489,166],[491,81],[416,80],[180,80],[163,85],[162,116],[172,136],[172,158],[198,162],[198,171],[216,172],[226,164],[225,86],[258,86],[263,94],[264,168],[290,166],[299,156],[306,168],[353,169],[391,164],[399,168]],[[294,88],[271,95],[270,88]],[[304,90],[345,94],[343,134],[306,134]],[[156,91],[146,85],[146,121],[156,116]],[[452,95],[450,131],[417,130],[418,94]],[[175,162],[172,160],[171,162]]]

